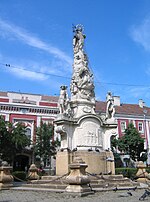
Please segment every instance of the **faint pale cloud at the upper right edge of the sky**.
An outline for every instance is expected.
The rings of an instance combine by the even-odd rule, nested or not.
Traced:
[[[150,16],[145,18],[140,25],[132,26],[131,37],[146,51],[150,51]]]

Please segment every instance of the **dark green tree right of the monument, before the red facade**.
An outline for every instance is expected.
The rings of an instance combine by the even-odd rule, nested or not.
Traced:
[[[144,139],[140,136],[133,123],[129,123],[124,136],[118,139],[118,149],[129,154],[131,159],[141,160],[140,154],[144,152]]]

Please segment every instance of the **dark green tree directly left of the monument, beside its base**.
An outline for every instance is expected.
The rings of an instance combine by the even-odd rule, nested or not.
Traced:
[[[58,140],[54,141],[54,126],[41,122],[41,126],[36,131],[36,144],[34,146],[35,155],[38,155],[46,166],[46,161],[56,154],[59,146]]]

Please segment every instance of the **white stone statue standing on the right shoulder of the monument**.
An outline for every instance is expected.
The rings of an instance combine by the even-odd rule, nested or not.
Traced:
[[[106,120],[114,118],[115,115],[115,107],[114,107],[114,99],[112,97],[111,92],[108,92],[106,95]]]

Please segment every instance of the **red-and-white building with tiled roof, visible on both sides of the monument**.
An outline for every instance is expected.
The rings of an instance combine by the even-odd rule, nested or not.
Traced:
[[[121,104],[120,97],[114,96],[115,118],[118,121],[118,137],[124,135],[129,122],[138,129],[145,140],[145,149],[150,151],[150,108],[142,100],[138,104]],[[96,112],[100,115],[106,112],[106,102],[96,102]],[[36,127],[41,121],[53,123],[57,114],[58,97],[20,92],[0,92],[0,115],[13,124],[24,122],[27,126],[27,135],[35,141]],[[23,154],[24,155],[24,154]],[[32,155],[27,155],[28,163]]]

